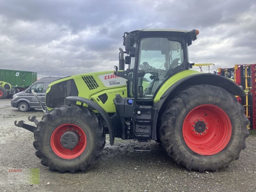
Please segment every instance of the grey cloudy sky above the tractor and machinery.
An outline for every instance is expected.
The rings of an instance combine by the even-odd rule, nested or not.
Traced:
[[[0,68],[39,77],[112,70],[125,31],[198,29],[190,62],[256,63],[255,0],[0,0]]]

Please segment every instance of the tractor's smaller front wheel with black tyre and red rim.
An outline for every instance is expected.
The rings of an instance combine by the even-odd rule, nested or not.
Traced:
[[[87,171],[105,146],[105,132],[94,112],[62,105],[44,114],[34,133],[36,156],[52,171]]]

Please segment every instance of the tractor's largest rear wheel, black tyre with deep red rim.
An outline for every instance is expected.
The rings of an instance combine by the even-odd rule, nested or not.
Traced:
[[[187,169],[217,171],[245,148],[249,132],[244,107],[212,85],[194,85],[167,101],[158,120],[168,155]]]

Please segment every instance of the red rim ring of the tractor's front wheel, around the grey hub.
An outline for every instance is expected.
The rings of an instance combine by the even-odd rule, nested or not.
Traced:
[[[77,134],[79,135],[79,141],[76,147],[74,147],[72,151],[70,149],[66,149],[62,147],[60,143],[61,135],[63,135],[64,132],[67,132],[69,130],[77,132]],[[69,124],[69,123],[62,124],[52,132],[52,136],[51,136],[52,150],[57,156],[64,159],[74,159],[80,156],[86,148],[86,143],[87,143],[87,139],[84,131],[75,124]]]

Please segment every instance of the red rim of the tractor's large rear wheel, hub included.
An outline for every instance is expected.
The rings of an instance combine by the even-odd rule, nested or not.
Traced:
[[[186,116],[182,134],[187,146],[200,155],[222,151],[231,138],[231,121],[223,109],[210,104],[193,108]]]

